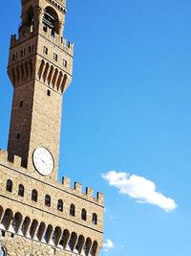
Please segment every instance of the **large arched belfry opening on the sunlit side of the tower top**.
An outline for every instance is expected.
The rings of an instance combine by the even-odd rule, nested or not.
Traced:
[[[59,34],[59,19],[52,7],[47,7],[43,15],[43,31],[51,31],[51,35]]]

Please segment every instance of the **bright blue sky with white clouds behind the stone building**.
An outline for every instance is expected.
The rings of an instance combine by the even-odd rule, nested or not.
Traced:
[[[3,149],[9,42],[20,23],[20,1],[9,3],[1,3]],[[191,255],[190,12],[188,0],[68,0],[74,79],[64,98],[59,177],[105,194],[108,251],[100,256]]]

